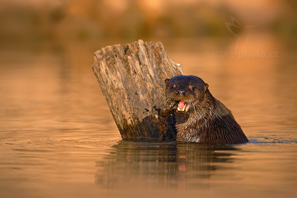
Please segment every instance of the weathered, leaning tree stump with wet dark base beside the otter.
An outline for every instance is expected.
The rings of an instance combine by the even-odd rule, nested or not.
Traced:
[[[123,139],[173,140],[171,116],[160,117],[164,80],[183,73],[159,42],[139,40],[95,52],[93,71]]]

